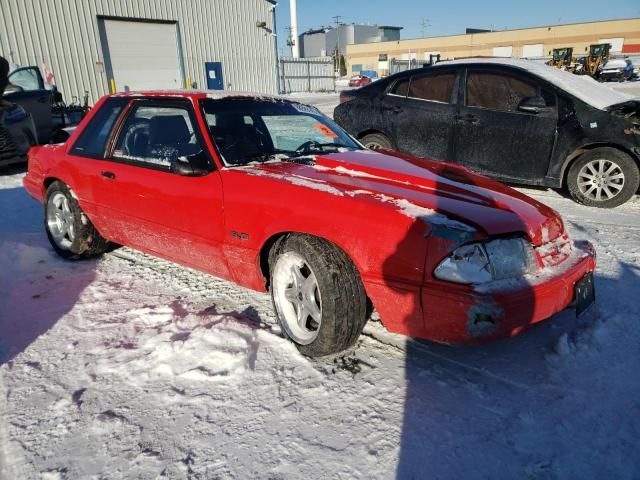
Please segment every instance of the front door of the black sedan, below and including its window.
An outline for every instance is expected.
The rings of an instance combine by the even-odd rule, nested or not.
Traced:
[[[468,68],[459,95],[454,158],[480,173],[535,183],[544,178],[557,136],[555,94],[536,78]],[[543,99],[537,108],[526,108]]]

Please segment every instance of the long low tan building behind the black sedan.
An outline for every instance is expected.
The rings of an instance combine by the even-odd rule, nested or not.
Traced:
[[[576,56],[585,55],[593,43],[610,43],[614,55],[640,54],[640,18],[549,25],[518,30],[465,33],[347,46],[347,68],[357,73],[376,70],[389,74],[394,60],[414,60],[421,65],[430,55],[444,59],[477,56],[545,58],[554,48],[573,47]]]

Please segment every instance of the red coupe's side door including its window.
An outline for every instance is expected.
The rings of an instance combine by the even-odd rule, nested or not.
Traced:
[[[116,242],[228,277],[222,183],[190,102],[133,102],[108,161],[100,176]],[[180,163],[200,173],[176,173]]]

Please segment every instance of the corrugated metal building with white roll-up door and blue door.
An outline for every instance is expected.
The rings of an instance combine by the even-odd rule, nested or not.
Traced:
[[[212,88],[277,93],[274,0],[2,0],[0,55],[89,92]]]

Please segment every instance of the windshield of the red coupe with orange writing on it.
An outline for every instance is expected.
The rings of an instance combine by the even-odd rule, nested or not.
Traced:
[[[227,166],[296,161],[360,145],[316,108],[279,99],[205,100],[211,138]]]

